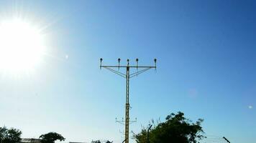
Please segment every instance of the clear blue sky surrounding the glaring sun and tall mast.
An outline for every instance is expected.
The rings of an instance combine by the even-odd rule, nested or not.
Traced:
[[[157,58],[131,81],[133,132],[181,111],[206,135],[255,142],[256,1],[0,1],[0,19],[17,14],[44,28],[47,54],[32,74],[0,71],[1,126],[122,142],[125,80],[99,58]]]

